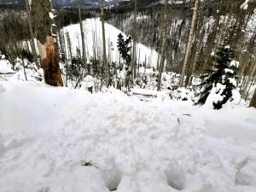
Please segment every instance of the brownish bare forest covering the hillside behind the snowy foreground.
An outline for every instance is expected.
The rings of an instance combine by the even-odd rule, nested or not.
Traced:
[[[83,3],[83,1],[80,2],[80,6]],[[153,90],[156,89],[156,86],[160,90],[160,84],[163,84],[161,83],[161,73],[169,72],[177,73],[175,76],[177,79],[180,78],[179,73],[181,73],[183,83],[179,82],[177,84],[178,80],[172,79],[176,83],[169,84],[167,87],[176,90],[177,87],[184,86],[189,90],[195,91],[195,89],[198,89],[195,88],[195,84],[200,81],[204,82],[203,79],[205,78],[202,77],[216,68],[212,67],[216,65],[214,55],[222,46],[229,45],[230,49],[234,51],[232,59],[240,62],[236,72],[236,86],[238,86],[242,98],[251,100],[256,82],[256,72],[254,70],[255,2],[246,1],[246,9],[241,7],[243,3],[243,0],[235,3],[230,0],[199,1],[196,5],[195,13],[193,1],[187,3],[166,1],[166,4],[158,1],[138,1],[136,12],[134,3],[123,3],[115,7],[105,7],[103,9],[105,12],[103,17],[101,9],[57,8],[54,12],[54,15],[57,15],[54,21],[57,35],[56,46],[59,49],[59,54],[61,53],[59,55],[61,62],[66,66],[66,70],[61,70],[61,73],[66,76],[65,81],[70,76],[69,79],[76,81],[75,84],[79,86],[79,79],[82,76],[84,78],[86,73],[91,74],[93,77],[98,77],[103,84],[104,79],[102,77],[104,75],[106,77],[109,76],[110,82],[116,82],[120,78],[119,73],[126,69],[125,75],[127,71],[131,72],[130,87],[133,87],[145,84],[145,75],[139,77],[140,67],[152,68],[153,76],[150,76],[149,82],[146,78],[146,84],[154,84]],[[25,7],[22,5],[2,4],[0,11],[0,20],[3,23],[0,26],[0,35],[2,37],[0,51],[2,55],[5,55],[13,67],[15,67],[17,57],[22,57],[30,62],[37,61],[38,56],[35,59],[35,55],[32,53],[32,36],[27,22],[28,12]],[[111,56],[109,56],[109,49],[114,49],[111,48],[113,42],[108,42],[105,45],[108,47],[106,61],[99,56],[103,54],[102,49],[104,46],[98,43],[100,39],[96,36],[92,37],[96,43],[92,48],[94,49],[94,54],[93,56],[90,55],[90,58],[85,58],[85,55],[89,55],[89,53],[85,53],[86,50],[84,49],[86,42],[76,45],[75,50],[71,49],[73,40],[70,39],[68,32],[64,32],[63,27],[79,23],[79,15],[80,20],[101,17],[104,21],[131,37],[130,40],[126,39],[129,41],[126,42],[126,45],[125,39],[119,37],[119,47],[115,48],[119,49],[119,61],[112,61]],[[194,15],[195,22],[194,26],[192,26],[192,17]],[[136,22],[134,22],[135,18]],[[36,24],[32,23],[32,25]],[[32,31],[36,31],[33,26]],[[193,33],[191,34],[192,27]],[[85,33],[84,38],[91,38],[86,37],[85,28],[83,31]],[[190,39],[189,36],[191,36]],[[81,39],[83,40],[84,38]],[[142,59],[141,50],[136,47],[138,43],[148,46],[152,51],[156,51],[159,54],[156,64],[152,54],[145,55],[145,58]],[[103,62],[108,62],[106,69],[104,69],[106,64],[103,64]],[[186,63],[185,67],[184,63]],[[160,65],[162,65],[161,69]],[[87,66],[85,72],[83,71],[83,66]],[[104,74],[106,70],[108,75]],[[122,81],[124,85],[125,79]]]

